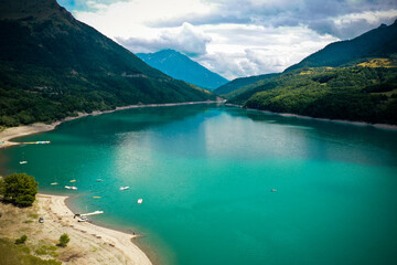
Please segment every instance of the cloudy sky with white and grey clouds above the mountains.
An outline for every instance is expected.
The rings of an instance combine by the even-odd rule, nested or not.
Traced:
[[[173,49],[228,80],[281,72],[397,19],[396,0],[57,0],[133,53]]]

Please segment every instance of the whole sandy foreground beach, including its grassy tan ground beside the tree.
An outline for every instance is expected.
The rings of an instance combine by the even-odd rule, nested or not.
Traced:
[[[24,233],[34,250],[43,244],[54,246],[60,235],[67,233],[71,242],[64,248],[58,247],[54,255],[63,263],[152,264],[148,256],[132,243],[136,235],[78,222],[77,219],[73,219],[74,213],[66,206],[66,199],[67,197],[37,194],[36,202],[29,209],[18,209],[0,203],[2,212],[0,236],[17,239]],[[44,218],[44,223],[40,224],[37,216]],[[40,257],[45,258],[45,256]]]

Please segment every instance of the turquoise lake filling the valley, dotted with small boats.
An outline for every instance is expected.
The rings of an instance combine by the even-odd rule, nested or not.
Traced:
[[[397,131],[192,105],[18,139],[35,140],[51,145],[0,150],[1,173],[105,211],[155,264],[397,264]]]

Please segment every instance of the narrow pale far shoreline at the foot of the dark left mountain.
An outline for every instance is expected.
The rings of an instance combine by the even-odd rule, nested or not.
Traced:
[[[118,110],[125,110],[130,108],[146,108],[146,107],[171,107],[171,106],[184,106],[184,105],[195,105],[195,104],[214,104],[214,103],[223,103],[217,100],[206,100],[206,102],[184,102],[184,103],[164,103],[164,104],[147,104],[147,105],[128,105],[124,107],[116,107],[111,110],[95,110],[90,114],[87,113],[77,113],[75,117],[66,117],[61,120],[56,120],[52,124],[43,124],[43,123],[35,123],[31,125],[23,125],[18,127],[7,128],[3,131],[0,131],[0,148],[7,148],[12,146],[22,145],[22,142],[12,141],[14,138],[19,138],[22,136],[35,135],[40,132],[51,131],[54,130],[58,125],[69,121],[73,119],[78,119],[87,116],[97,116],[101,114],[115,113]]]

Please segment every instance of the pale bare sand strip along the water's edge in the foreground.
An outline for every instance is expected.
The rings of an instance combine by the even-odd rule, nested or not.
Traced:
[[[94,243],[99,245],[96,247],[103,247],[100,252],[105,257],[116,257],[121,254],[122,261],[119,261],[120,264],[152,265],[146,253],[132,242],[132,240],[139,237],[139,235],[129,234],[127,232],[104,227],[88,222],[78,222],[77,219],[73,218],[74,212],[66,203],[66,200],[69,197],[45,193],[37,193],[36,197],[40,208],[45,208],[44,210],[47,210],[45,213],[42,212],[45,220],[44,224],[51,222],[61,224],[61,229],[71,237],[69,245],[77,243],[77,246],[81,247],[81,245],[78,245],[79,243],[83,244],[84,241],[94,241]],[[94,256],[96,254],[94,254]]]

